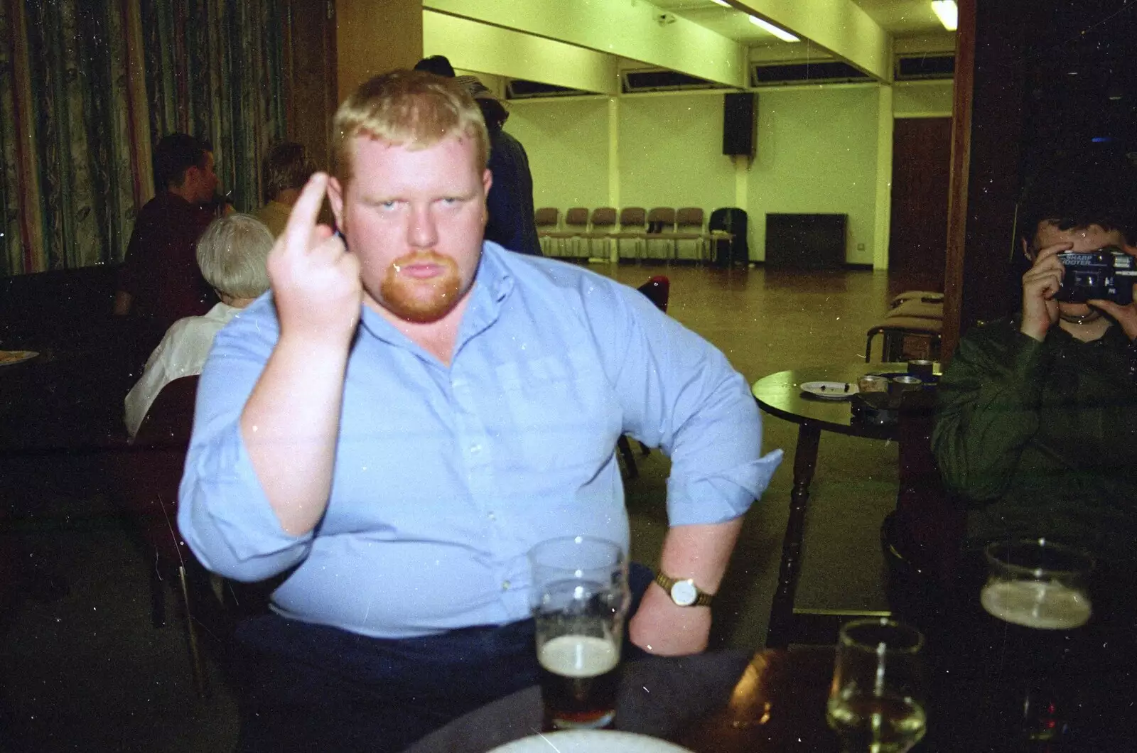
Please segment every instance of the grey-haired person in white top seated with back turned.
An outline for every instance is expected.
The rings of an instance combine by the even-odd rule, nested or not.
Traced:
[[[174,322],[150,354],[142,378],[126,394],[125,422],[132,440],[161,388],[181,376],[200,374],[214,336],[268,290],[265,264],[273,241],[268,227],[247,214],[215,220],[202,233],[197,248],[198,267],[221,303],[204,316]]]

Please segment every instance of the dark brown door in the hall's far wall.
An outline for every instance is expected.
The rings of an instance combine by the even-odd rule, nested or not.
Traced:
[[[893,125],[893,216],[889,276],[944,289],[952,118],[898,118]]]

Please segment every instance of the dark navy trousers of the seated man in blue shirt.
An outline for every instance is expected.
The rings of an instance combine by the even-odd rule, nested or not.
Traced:
[[[632,613],[652,577],[632,565]],[[532,620],[387,639],[268,614],[236,638],[248,649],[241,753],[397,753],[537,682]],[[624,645],[625,659],[642,653]]]

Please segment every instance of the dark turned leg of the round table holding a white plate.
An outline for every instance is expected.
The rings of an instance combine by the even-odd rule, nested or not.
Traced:
[[[782,560],[778,569],[778,589],[770,607],[770,627],[766,629],[766,647],[785,648],[789,645],[794,623],[794,595],[797,593],[797,577],[800,571],[802,537],[805,533],[805,505],[810,500],[810,482],[818,464],[818,442],[821,429],[803,423],[797,431],[797,449],[794,453],[794,490],[789,496],[789,521],[782,539]]]

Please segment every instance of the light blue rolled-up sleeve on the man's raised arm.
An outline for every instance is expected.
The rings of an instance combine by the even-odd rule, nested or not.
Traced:
[[[214,342],[198,383],[179,494],[177,524],[190,549],[208,570],[242,581],[300,563],[313,539],[281,528],[241,436],[241,412],[276,341],[265,306],[272,301],[250,306]]]

